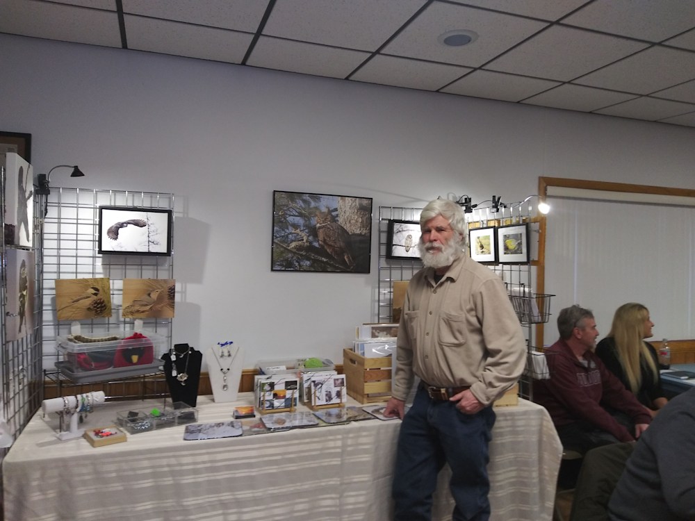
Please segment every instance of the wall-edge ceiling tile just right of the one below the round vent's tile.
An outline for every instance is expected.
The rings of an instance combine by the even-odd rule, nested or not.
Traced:
[[[559,85],[559,83],[557,81],[503,74],[502,72],[477,70],[443,88],[441,92],[476,98],[519,101],[538,92],[543,92],[543,90],[553,88],[555,85]]]

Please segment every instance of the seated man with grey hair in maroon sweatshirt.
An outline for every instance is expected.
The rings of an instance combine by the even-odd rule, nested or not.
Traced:
[[[564,308],[557,329],[559,340],[546,349],[550,378],[534,380],[533,399],[548,410],[563,447],[584,454],[639,438],[651,415],[594,354],[594,314]]]

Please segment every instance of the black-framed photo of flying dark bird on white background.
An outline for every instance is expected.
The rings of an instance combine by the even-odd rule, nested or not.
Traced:
[[[99,206],[99,253],[172,254],[172,210],[137,206]]]

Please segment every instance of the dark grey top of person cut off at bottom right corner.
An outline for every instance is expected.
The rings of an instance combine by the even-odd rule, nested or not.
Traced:
[[[695,388],[662,408],[608,503],[611,521],[695,520]]]

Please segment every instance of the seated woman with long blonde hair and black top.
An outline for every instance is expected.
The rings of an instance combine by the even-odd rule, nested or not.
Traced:
[[[610,333],[596,346],[596,355],[607,369],[635,394],[652,417],[668,402],[661,387],[656,350],[644,341],[652,336],[653,326],[645,306],[628,302],[616,310]]]

